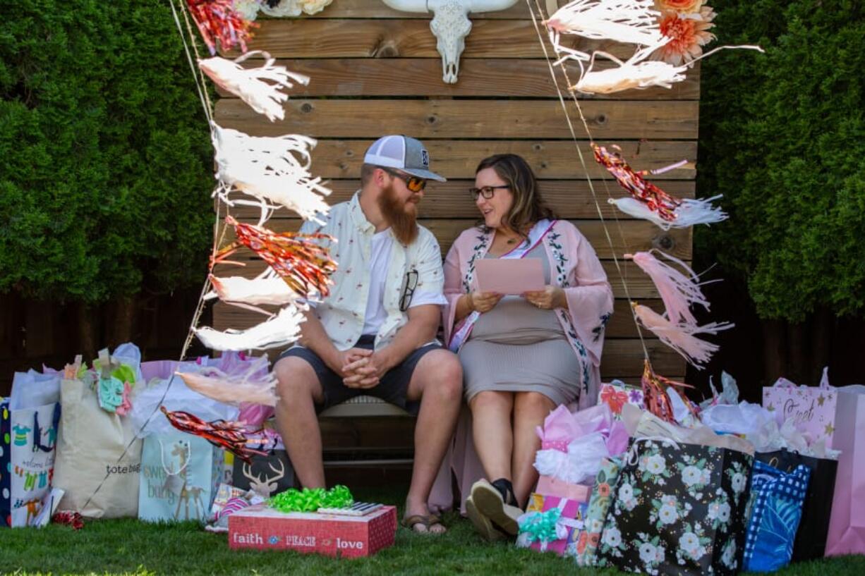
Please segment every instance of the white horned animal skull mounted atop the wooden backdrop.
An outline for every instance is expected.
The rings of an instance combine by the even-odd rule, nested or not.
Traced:
[[[517,0],[382,0],[394,10],[403,12],[432,11],[430,29],[441,54],[442,80],[456,84],[459,56],[465,48],[465,36],[471,32],[470,12],[506,10]]]

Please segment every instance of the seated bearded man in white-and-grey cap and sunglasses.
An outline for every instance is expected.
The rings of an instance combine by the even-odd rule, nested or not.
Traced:
[[[362,188],[330,208],[324,227],[301,232],[336,238],[339,267],[330,295],[310,303],[298,345],[276,362],[277,427],[304,487],[324,487],[317,413],[361,394],[417,415],[412,483],[403,524],[440,534],[427,506],[459,412],[463,373],[436,340],[442,293],[439,243],[417,224],[429,170],[420,141],[379,138],[367,150]],[[328,243],[325,242],[327,245]]]

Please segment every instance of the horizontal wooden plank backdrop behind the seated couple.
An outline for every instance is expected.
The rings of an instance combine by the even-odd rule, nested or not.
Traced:
[[[436,234],[443,253],[477,220],[467,192],[477,162],[502,152],[522,155],[540,178],[548,204],[586,234],[610,278],[616,313],[608,325],[601,373],[605,379],[634,381],[642,372],[644,349],[626,298],[658,311],[663,307],[650,279],[621,256],[657,247],[689,260],[692,235],[690,230],[664,232],[615,211],[606,200],[624,191],[594,162],[589,138],[618,144],[638,170],[688,159],[657,182],[674,195],[693,198],[700,68],[672,89],[580,96],[586,125],[565,93],[579,140],[574,143],[526,3],[470,16],[471,34],[453,85],[441,80],[430,17],[394,11],[375,0],[336,0],[314,16],[260,19],[249,48],[266,50],[311,82],[292,91],[284,121],[269,122],[221,93],[216,122],[253,136],[317,138],[312,173],[330,181],[330,203],[347,200],[358,188],[363,153],[375,138],[387,133],[420,138],[430,151],[432,170],[449,179],[432,182],[420,204],[421,223]],[[576,36],[566,42],[584,51],[630,55],[614,42]],[[577,69],[569,68],[567,78],[556,74],[559,85],[567,86],[576,80]],[[237,208],[234,215],[241,221],[257,218],[249,208]],[[269,226],[297,230],[299,224],[296,214],[285,213],[276,214]],[[240,261],[247,266],[223,265],[217,273],[251,277],[264,269],[251,254],[240,254]],[[247,328],[261,318],[222,303],[215,304],[213,316],[218,330]],[[685,373],[682,359],[657,339],[645,338],[645,347],[660,374],[681,378]]]

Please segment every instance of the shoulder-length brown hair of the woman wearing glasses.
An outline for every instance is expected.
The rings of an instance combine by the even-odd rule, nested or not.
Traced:
[[[498,177],[508,185],[510,193],[514,195],[513,206],[502,218],[504,226],[524,236],[526,228],[531,227],[535,222],[544,218],[556,218],[553,210],[548,208],[541,198],[535,172],[521,156],[497,154],[484,158],[477,164],[475,174],[487,168],[495,170]],[[478,227],[489,232],[483,220],[478,222]]]

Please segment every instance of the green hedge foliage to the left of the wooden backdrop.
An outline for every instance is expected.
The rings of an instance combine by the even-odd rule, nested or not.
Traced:
[[[0,291],[201,281],[212,153],[168,3],[2,3]]]

